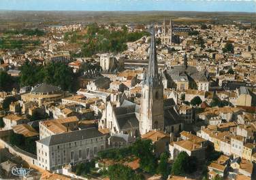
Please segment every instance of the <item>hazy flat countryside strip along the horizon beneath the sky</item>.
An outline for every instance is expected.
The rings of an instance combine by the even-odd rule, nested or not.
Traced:
[[[212,22],[229,24],[233,20],[252,22],[256,26],[256,13],[234,12],[20,12],[0,11],[0,29],[44,27],[52,24],[149,24],[172,18],[176,24]]]

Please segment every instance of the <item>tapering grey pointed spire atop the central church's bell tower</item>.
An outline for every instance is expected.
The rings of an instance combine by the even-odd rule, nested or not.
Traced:
[[[151,42],[150,42],[150,51],[149,51],[149,60],[148,60],[148,71],[146,73],[146,79],[144,84],[151,87],[157,87],[161,85],[161,78],[158,73],[157,65],[157,48],[155,47],[155,28],[154,25],[151,30]]]

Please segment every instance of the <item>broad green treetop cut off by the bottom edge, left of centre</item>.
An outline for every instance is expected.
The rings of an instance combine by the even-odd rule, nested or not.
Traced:
[[[134,170],[123,164],[109,166],[108,175],[110,180],[143,180],[142,175],[136,174]]]

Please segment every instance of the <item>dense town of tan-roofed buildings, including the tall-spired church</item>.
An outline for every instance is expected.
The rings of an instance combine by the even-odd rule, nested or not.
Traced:
[[[53,34],[80,30],[80,24],[50,27]],[[222,152],[208,165],[210,179],[254,177],[256,35],[251,28],[211,24],[201,29],[164,20],[151,31],[149,43],[142,37],[128,42],[121,54],[93,58],[71,58],[61,39],[42,40],[40,50],[3,55],[0,69],[19,76],[16,67],[29,60],[62,62],[74,73],[91,63],[102,71],[84,71],[75,94],[50,84],[0,92],[1,103],[10,96],[19,99],[3,113],[0,134],[37,138],[35,166],[60,170],[142,137],[153,141],[156,154],[170,152],[170,160],[185,151],[203,163],[209,147]],[[227,43],[234,52],[225,52]],[[35,114],[46,118],[29,120]]]

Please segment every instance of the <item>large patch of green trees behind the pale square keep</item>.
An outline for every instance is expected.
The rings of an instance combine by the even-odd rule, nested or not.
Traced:
[[[112,26],[110,29],[104,29],[97,24],[89,24],[86,29],[86,35],[79,35],[78,32],[65,33],[64,39],[71,43],[79,43],[81,41],[82,48],[79,54],[74,54],[76,57],[88,57],[97,53],[106,52],[123,52],[127,50],[127,42],[136,41],[144,35],[150,35],[146,31],[142,32],[128,32],[126,26],[121,30],[114,31]]]

